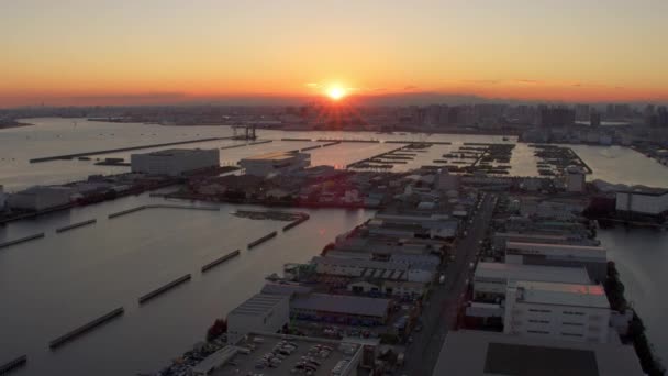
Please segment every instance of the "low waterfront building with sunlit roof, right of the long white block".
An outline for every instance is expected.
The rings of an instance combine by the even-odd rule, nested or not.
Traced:
[[[243,158],[238,165],[247,175],[268,176],[292,173],[311,165],[311,155],[297,152],[276,152]]]

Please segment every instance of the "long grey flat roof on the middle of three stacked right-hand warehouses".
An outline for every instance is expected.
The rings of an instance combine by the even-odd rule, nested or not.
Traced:
[[[559,267],[505,263],[478,263],[476,279],[538,280],[589,285],[589,274],[583,267]]]

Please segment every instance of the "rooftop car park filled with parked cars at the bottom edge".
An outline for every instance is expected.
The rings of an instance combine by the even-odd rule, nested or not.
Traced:
[[[280,347],[280,344],[285,343],[281,341],[297,345],[297,347],[289,355],[282,354],[281,356],[285,358],[281,360],[280,363],[277,361],[275,363],[276,367],[265,366],[263,356],[269,353],[276,353],[275,349],[277,349],[277,345]],[[296,373],[292,373],[292,369],[296,368],[299,363],[303,362],[303,357],[313,358],[320,363],[315,372],[311,375],[343,375],[341,372],[334,372],[335,368],[346,371],[346,362],[349,364],[350,360],[358,360],[361,355],[361,346],[358,344],[325,339],[264,333],[249,334],[248,339],[237,343],[236,347],[248,349],[250,350],[250,353],[244,354],[243,352],[237,351],[221,368],[211,373],[212,376],[294,375]],[[247,351],[244,352],[247,353]],[[299,373],[297,374],[299,375]]]

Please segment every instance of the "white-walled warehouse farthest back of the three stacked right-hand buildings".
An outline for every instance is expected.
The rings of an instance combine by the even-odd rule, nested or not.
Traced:
[[[584,267],[594,281],[608,275],[608,253],[601,246],[508,242],[509,264]]]

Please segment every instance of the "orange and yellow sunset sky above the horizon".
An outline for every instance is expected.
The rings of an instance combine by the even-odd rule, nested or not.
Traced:
[[[666,0],[2,0],[0,107],[415,92],[666,101]]]

